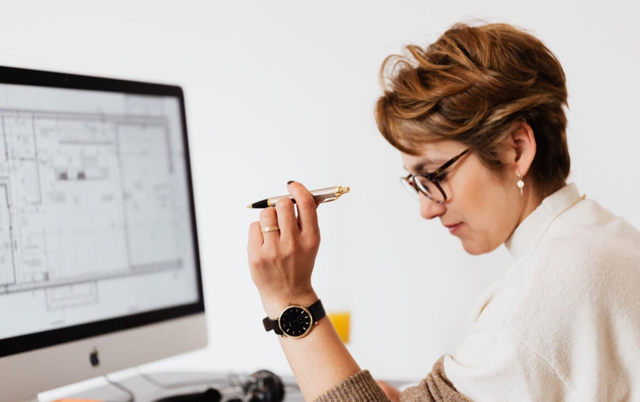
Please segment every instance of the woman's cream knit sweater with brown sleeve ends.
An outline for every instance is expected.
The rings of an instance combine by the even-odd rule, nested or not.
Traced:
[[[468,335],[401,401],[640,401],[640,233],[570,184],[506,242]],[[361,371],[319,401],[384,401]]]

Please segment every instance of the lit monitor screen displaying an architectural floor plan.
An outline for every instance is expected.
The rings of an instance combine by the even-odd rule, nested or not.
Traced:
[[[195,300],[179,106],[0,85],[0,339]]]

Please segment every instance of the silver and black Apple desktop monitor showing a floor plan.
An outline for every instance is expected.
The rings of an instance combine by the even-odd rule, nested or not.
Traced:
[[[206,343],[182,90],[0,67],[0,402]]]

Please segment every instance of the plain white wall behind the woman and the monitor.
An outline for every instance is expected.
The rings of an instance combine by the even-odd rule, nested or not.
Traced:
[[[572,180],[640,227],[639,6],[516,3],[3,0],[0,65],[184,88],[211,344],[156,367],[288,372],[260,323],[246,263],[258,212],[245,206],[296,180],[352,188],[319,208],[315,272],[326,304],[350,295],[349,349],[375,376],[420,378],[511,257],[467,256],[404,194],[372,117],[385,56],[474,17],[530,29],[568,77]]]

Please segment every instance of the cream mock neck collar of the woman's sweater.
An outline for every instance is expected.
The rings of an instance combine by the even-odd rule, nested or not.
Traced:
[[[575,183],[570,183],[543,199],[504,242],[511,255],[517,259],[531,252],[554,219],[581,198]]]

